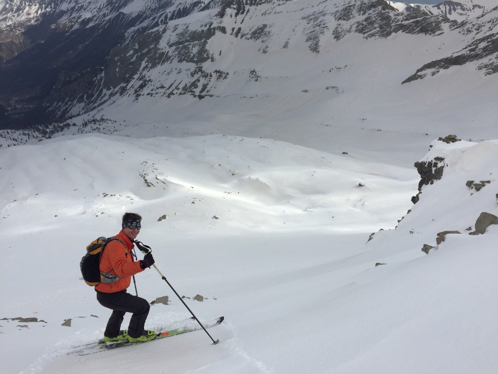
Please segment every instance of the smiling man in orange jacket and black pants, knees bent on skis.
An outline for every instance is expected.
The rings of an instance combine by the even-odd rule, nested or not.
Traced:
[[[156,337],[155,331],[143,330],[149,314],[149,303],[126,292],[131,284],[131,276],[154,264],[152,253],[147,253],[143,260],[135,261],[133,258],[133,241],[140,232],[141,220],[139,214],[124,213],[123,229],[114,236],[117,240],[111,240],[106,245],[102,254],[100,271],[119,277],[112,283],[99,283],[95,286],[99,303],[113,311],[104,332],[105,342],[125,339],[130,342],[144,342]],[[120,330],[125,313],[133,313],[127,331]]]

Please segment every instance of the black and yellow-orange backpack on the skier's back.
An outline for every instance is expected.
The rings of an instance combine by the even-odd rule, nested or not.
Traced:
[[[89,286],[97,286],[99,283],[114,283],[117,280],[122,279],[117,275],[111,274],[114,269],[109,270],[109,273],[100,271],[102,253],[104,253],[106,245],[112,240],[118,240],[123,243],[123,241],[118,238],[106,238],[101,236],[87,245],[87,254],[84,255],[80,261],[80,269],[83,280]],[[124,243],[123,245],[126,247]]]

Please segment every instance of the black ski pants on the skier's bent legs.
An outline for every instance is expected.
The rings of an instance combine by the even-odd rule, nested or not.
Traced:
[[[129,321],[128,335],[138,338],[143,334],[143,325],[150,309],[147,300],[130,295],[126,290],[112,293],[97,291],[97,300],[102,306],[113,311],[106,326],[105,336],[115,338],[120,334],[125,313],[133,313]]]

